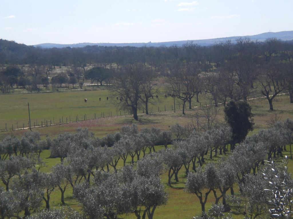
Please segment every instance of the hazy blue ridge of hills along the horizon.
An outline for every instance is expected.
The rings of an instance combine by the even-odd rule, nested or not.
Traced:
[[[267,32],[252,36],[230,36],[230,37],[223,37],[223,38],[215,38],[215,39],[200,39],[200,40],[183,40],[183,41],[171,41],[171,42],[159,42],[159,43],[77,43],[77,44],[54,44],[54,43],[43,43],[37,44],[34,46],[40,46],[42,48],[64,48],[64,47],[84,47],[84,46],[182,46],[188,42],[193,42],[194,44],[198,44],[200,46],[210,46],[218,42],[224,42],[227,40],[231,40],[232,43],[236,42],[239,37],[247,37],[251,40],[258,40],[258,41],[265,41],[268,38],[277,38],[282,41],[291,41],[293,40],[293,31],[282,31],[282,32]]]

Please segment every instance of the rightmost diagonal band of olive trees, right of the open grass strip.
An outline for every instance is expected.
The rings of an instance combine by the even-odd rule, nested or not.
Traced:
[[[292,144],[292,134],[293,122],[290,119],[270,129],[260,130],[237,145],[227,159],[208,163],[195,173],[189,173],[185,190],[197,196],[203,212],[209,194],[213,193],[215,204],[219,204],[222,198],[225,211],[231,210],[232,213],[244,215],[246,218],[258,218],[268,214],[271,206],[268,199],[271,199],[271,194],[268,195],[265,190],[270,183],[267,178],[263,178],[262,173],[268,174],[270,168],[263,165],[265,157],[267,155],[271,160],[272,154],[274,157],[276,153],[282,156],[282,150],[286,150],[285,145]],[[277,179],[280,181],[279,185],[285,178],[286,186],[292,188],[293,181],[289,174],[283,174]],[[234,193],[235,183],[239,186],[239,194]],[[231,195],[226,194],[228,190]]]

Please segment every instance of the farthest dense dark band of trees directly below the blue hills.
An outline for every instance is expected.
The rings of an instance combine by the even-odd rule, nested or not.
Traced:
[[[279,41],[276,38],[265,42],[241,39],[236,44],[231,41],[214,44],[213,46],[198,46],[187,43],[184,46],[170,47],[134,47],[134,46],[85,46],[82,48],[41,48],[18,44],[14,41],[0,39],[0,65],[50,65],[78,66],[97,64],[116,67],[125,63],[143,62],[151,67],[162,68],[173,60],[197,60],[201,63],[223,62],[232,53],[241,51],[252,52],[254,55],[274,55],[278,51],[284,54],[293,50],[292,41]],[[284,58],[291,58],[285,55]]]

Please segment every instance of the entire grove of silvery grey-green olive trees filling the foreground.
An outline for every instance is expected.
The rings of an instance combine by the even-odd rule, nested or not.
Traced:
[[[134,213],[137,219],[151,219],[156,208],[167,202],[160,175],[168,172],[171,186],[173,177],[179,181],[178,173],[183,166],[187,176],[185,191],[198,198],[201,218],[229,218],[223,211],[230,210],[245,218],[267,218],[269,208],[272,215],[291,215],[290,175],[274,163],[270,163],[272,168],[262,168],[265,157],[282,156],[285,144],[291,142],[292,124],[287,119],[273,128],[260,130],[230,152],[227,145],[232,134],[227,126],[181,135],[184,127],[176,125],[173,129],[177,130],[177,140],[171,139],[170,131],[154,127],[139,130],[136,125],[123,126],[120,133],[109,134],[104,140],[81,128],[53,140],[40,140],[39,133],[27,133],[21,140],[6,137],[0,142],[0,177],[6,187],[0,191],[1,217],[117,218]],[[172,145],[166,147],[169,143]],[[165,149],[156,152],[154,146],[161,144]],[[51,172],[43,173],[40,153],[47,148],[51,157],[60,158],[61,163],[52,167]],[[229,156],[214,159],[218,153]],[[120,159],[124,163],[122,168],[117,167]],[[211,159],[213,162],[206,162]],[[262,172],[265,178],[260,175]],[[236,182],[239,193],[234,194]],[[52,192],[59,190],[65,204],[64,194],[69,186],[82,206],[83,215],[72,216],[64,208],[50,210]],[[205,213],[210,193],[215,205]],[[42,204],[47,211],[40,211]],[[277,204],[281,207],[273,207]],[[280,213],[282,209],[285,213]]]

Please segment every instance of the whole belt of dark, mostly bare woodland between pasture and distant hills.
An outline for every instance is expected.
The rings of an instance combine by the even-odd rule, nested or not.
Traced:
[[[84,79],[113,85],[113,93],[133,112],[156,95],[157,77],[167,77],[168,95],[185,102],[204,92],[215,105],[229,100],[248,100],[253,92],[272,101],[289,93],[293,103],[293,43],[269,38],[264,42],[239,38],[199,46],[187,43],[170,47],[35,48],[0,40],[0,86],[2,93],[23,87],[39,91],[52,84],[79,84]],[[50,76],[56,67],[67,72]],[[50,77],[49,77],[50,76]],[[123,92],[122,92],[123,91]],[[131,101],[130,101],[131,100]],[[135,113],[134,113],[135,114]],[[184,110],[183,110],[184,114]],[[136,118],[134,116],[134,118]]]

